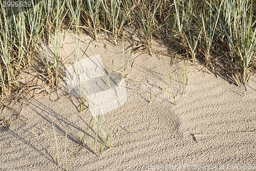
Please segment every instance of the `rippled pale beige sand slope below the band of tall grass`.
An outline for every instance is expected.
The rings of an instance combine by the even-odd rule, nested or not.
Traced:
[[[115,46],[101,38],[84,52],[90,40],[81,37],[79,58],[100,54],[106,70],[114,59],[113,72],[122,73],[122,44]],[[61,49],[65,67],[74,56],[74,42],[74,36],[67,34]],[[131,44],[125,44],[129,56]],[[151,56],[143,50],[132,54],[125,76],[127,101],[106,114],[114,119],[113,146],[100,158],[76,137],[83,135],[92,114],[89,109],[79,113],[79,101],[69,95],[65,81],[50,94],[51,89],[39,95],[40,89],[35,89],[33,98],[28,98],[30,92],[9,108],[3,107],[2,117],[20,116],[9,129],[0,131],[0,170],[65,170],[66,131],[66,159],[75,154],[69,170],[207,170],[207,165],[215,170],[255,170],[256,78],[237,87],[202,65],[187,64],[185,85],[183,62],[171,65],[174,56],[168,56],[156,52]],[[32,73],[29,68],[27,72]],[[170,90],[169,72],[174,91],[180,90],[177,105],[164,90]],[[32,82],[32,75],[25,79]],[[34,78],[33,84],[44,88],[40,80]],[[52,122],[59,142],[59,165]],[[88,136],[93,141],[93,126]]]

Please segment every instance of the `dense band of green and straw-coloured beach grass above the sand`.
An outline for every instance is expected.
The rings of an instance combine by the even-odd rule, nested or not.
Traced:
[[[105,32],[117,45],[124,27],[136,28],[142,36],[141,44],[150,53],[152,39],[177,42],[173,48],[188,54],[186,58],[193,62],[200,59],[214,73],[222,66],[218,63],[220,54],[227,54],[222,62],[229,64],[219,72],[229,73],[237,84],[247,83],[250,74],[255,73],[256,5],[252,0],[42,0],[31,5],[31,9],[19,13],[0,2],[3,97],[18,88],[18,82],[14,82],[17,75],[41,44],[54,47],[53,58],[39,56],[48,83],[58,85],[63,74],[59,59],[61,31],[65,29],[75,33],[86,29],[95,40],[99,32]]]

